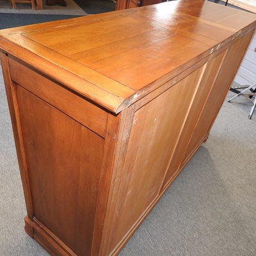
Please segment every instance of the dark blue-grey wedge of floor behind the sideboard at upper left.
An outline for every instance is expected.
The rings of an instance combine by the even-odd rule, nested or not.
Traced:
[[[17,14],[1,13],[0,29],[37,24],[53,20],[71,19],[81,16],[76,15],[45,15],[45,14]]]

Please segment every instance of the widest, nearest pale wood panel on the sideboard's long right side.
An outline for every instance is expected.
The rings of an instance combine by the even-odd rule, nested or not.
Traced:
[[[109,253],[131,232],[158,196],[202,70],[203,67],[198,68],[134,114]],[[140,204],[134,204],[134,198]]]

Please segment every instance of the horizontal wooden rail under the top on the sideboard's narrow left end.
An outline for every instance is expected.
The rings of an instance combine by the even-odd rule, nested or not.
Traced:
[[[33,67],[26,65],[19,59],[10,55],[8,60],[11,79],[17,86],[28,90],[84,127],[105,138],[108,118],[106,109],[91,100],[84,99],[83,96],[77,95],[62,84],[52,81],[49,77],[36,72]],[[19,76],[20,72],[23,76]],[[51,93],[47,93],[50,91]],[[56,95],[58,97],[55,97]],[[72,108],[63,103],[62,99],[72,102]]]

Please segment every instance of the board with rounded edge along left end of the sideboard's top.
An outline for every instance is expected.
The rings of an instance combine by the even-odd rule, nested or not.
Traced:
[[[26,48],[16,43],[20,40],[26,44]],[[0,45],[0,50],[3,49],[3,52],[26,62],[45,76],[51,77],[58,83],[67,86],[70,90],[74,90],[74,92],[83,95],[112,113],[118,113],[117,109],[122,105],[124,99],[136,93],[124,84],[120,84],[95,70],[86,68],[81,63],[70,60],[58,54],[58,52],[54,52],[54,60],[51,61],[48,60],[49,56],[38,56],[33,52],[33,48],[36,47],[40,51],[44,47],[26,38],[26,36],[19,34],[8,35],[6,31],[6,33],[1,33],[0,35]],[[51,51],[47,54],[51,54]],[[81,70],[81,74],[77,74],[77,70]],[[86,77],[90,78],[87,79]],[[108,86],[110,87],[108,88]]]

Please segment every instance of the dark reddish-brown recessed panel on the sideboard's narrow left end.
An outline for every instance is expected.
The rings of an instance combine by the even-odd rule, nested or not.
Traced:
[[[90,255],[104,139],[17,86],[35,217]]]

